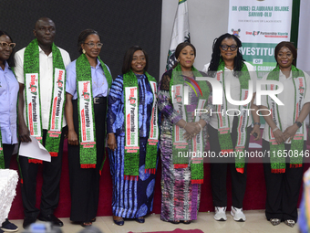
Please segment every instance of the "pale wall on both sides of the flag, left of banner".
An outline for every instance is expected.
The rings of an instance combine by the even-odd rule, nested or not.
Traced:
[[[165,71],[172,26],[179,0],[162,0],[160,75]],[[197,50],[194,66],[202,70],[210,62],[212,44],[227,32],[229,0],[188,0],[191,44]]]

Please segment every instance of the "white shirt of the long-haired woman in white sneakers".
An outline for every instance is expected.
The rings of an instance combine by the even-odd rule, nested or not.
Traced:
[[[256,75],[256,71],[255,68],[248,62],[244,62],[244,64],[246,65],[249,73],[250,73],[250,79],[253,80],[253,93],[256,92],[256,79],[257,79],[257,75]],[[203,72],[208,72],[209,69],[209,65],[210,63],[204,65],[202,71]],[[229,80],[231,82],[230,85],[230,90],[231,90],[231,96],[232,99],[234,101],[240,101],[240,81],[238,78],[233,76],[233,70],[231,69],[227,69],[225,67],[224,69],[224,82],[227,82],[227,80]],[[227,110],[232,110],[232,109],[239,109],[238,105],[233,105],[232,103],[230,103],[229,101],[227,101]],[[248,125],[250,126],[252,124],[252,112],[249,112],[249,121],[248,121]],[[238,111],[235,111],[236,114],[238,114]],[[241,112],[242,114],[243,112]],[[218,129],[218,117],[217,117],[218,113],[212,113],[212,116],[210,118],[210,125],[214,128],[214,129]],[[219,113],[221,114],[221,113]],[[224,114],[226,114],[226,112],[224,111]],[[229,116],[229,121],[230,121],[230,132],[232,132],[233,129],[233,111],[228,111]]]

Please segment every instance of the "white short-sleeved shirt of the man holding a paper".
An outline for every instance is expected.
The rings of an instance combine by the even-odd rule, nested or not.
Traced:
[[[62,48],[59,48],[61,57],[63,58],[65,68],[71,62],[70,56]],[[22,48],[15,53],[15,75],[18,82],[24,84],[24,53],[25,48]],[[48,56],[39,47],[39,66],[40,66],[40,101],[41,101],[41,120],[42,128],[47,130],[50,115],[50,105],[53,93],[53,53],[51,52]],[[24,92],[25,100],[25,92]],[[65,112],[64,112],[65,113]],[[26,121],[26,105],[24,101],[24,119]],[[63,118],[63,126],[66,126],[67,122],[65,114]]]

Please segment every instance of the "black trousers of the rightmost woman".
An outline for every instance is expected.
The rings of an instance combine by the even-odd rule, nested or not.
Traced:
[[[291,144],[284,144],[285,150],[291,149]],[[304,153],[306,143],[304,143]],[[269,142],[263,140],[263,152],[270,151]],[[273,156],[272,154],[270,156]],[[286,168],[283,174],[271,172],[270,158],[263,160],[263,173],[266,183],[267,198],[265,215],[267,220],[279,218],[281,220],[298,218],[297,203],[300,185],[302,184],[304,167],[290,168],[289,158],[286,158]]]

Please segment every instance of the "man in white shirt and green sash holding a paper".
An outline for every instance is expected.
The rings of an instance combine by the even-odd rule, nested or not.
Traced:
[[[51,162],[36,158],[36,154],[19,156],[21,170],[24,223],[26,228],[36,222],[50,221],[59,227],[63,223],[54,216],[59,200],[59,180],[64,142],[66,67],[70,57],[54,44],[56,26],[41,17],[36,21],[35,39],[15,54],[15,74],[19,82],[19,139],[23,143],[42,143]],[[30,138],[31,136],[31,138]],[[43,185],[40,210],[36,208],[36,175],[43,164]]]

